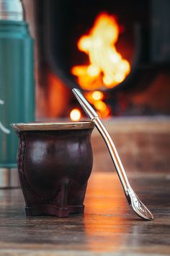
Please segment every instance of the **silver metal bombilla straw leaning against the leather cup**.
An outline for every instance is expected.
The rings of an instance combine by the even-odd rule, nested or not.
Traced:
[[[146,205],[144,205],[143,202],[140,201],[140,199],[138,198],[138,196],[135,194],[132,187],[130,186],[128,177],[125,173],[125,169],[122,166],[122,162],[120,161],[120,157],[117,153],[117,150],[112,141],[112,138],[110,137],[109,132],[107,132],[107,129],[104,127],[104,124],[102,123],[102,121],[99,119],[97,112],[94,111],[94,108],[92,108],[89,102],[86,101],[86,98],[84,98],[80,90],[74,88],[72,92],[76,96],[82,108],[84,108],[84,111],[86,112],[87,116],[89,116],[89,119],[91,119],[91,121],[94,122],[99,133],[104,138],[104,142],[107,145],[109,154],[111,155],[112,161],[115,165],[117,174],[120,178],[120,182],[122,184],[122,188],[124,189],[125,196],[128,200],[129,205],[133,208],[135,213],[137,213],[137,215],[140,216],[141,218],[144,218],[150,221],[153,220],[152,213],[148,210],[148,208],[146,208]]]

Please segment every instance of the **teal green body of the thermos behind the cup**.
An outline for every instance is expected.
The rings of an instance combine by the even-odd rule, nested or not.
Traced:
[[[35,120],[33,40],[26,22],[0,20],[0,168],[17,166],[10,124]]]

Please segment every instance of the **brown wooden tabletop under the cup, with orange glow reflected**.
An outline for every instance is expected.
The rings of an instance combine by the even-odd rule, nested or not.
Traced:
[[[28,218],[20,189],[1,189],[0,255],[170,255],[170,175],[128,176],[154,221],[133,213],[114,172],[91,174],[84,216]]]

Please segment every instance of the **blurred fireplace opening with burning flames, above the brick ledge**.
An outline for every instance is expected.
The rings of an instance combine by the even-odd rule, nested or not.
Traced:
[[[84,92],[102,117],[170,113],[168,0],[27,2],[24,0],[28,19],[30,9],[34,11],[31,25],[37,49],[37,117],[68,118],[74,108],[72,116],[84,116],[71,95],[74,87]],[[99,27],[101,17],[109,20],[108,26],[115,22],[117,29],[116,35],[114,29],[102,30],[100,38],[104,39],[104,34],[110,37],[110,48],[103,56],[99,56],[103,45],[98,53],[91,54],[88,48],[89,38],[95,46],[98,31],[94,33],[94,28]],[[120,69],[116,73],[118,64],[114,67],[111,62],[107,64],[111,69],[108,75],[104,64],[99,64],[109,51],[121,59],[124,73],[120,74]],[[93,62],[95,54],[99,59]],[[90,72],[94,72],[92,78],[87,75]],[[117,77],[114,82],[110,82],[112,76]]]

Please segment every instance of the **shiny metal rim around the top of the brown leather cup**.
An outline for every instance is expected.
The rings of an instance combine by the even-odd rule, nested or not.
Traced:
[[[11,124],[15,131],[54,131],[63,129],[93,129],[92,121],[58,121],[58,122],[43,122],[35,121],[29,123]]]

